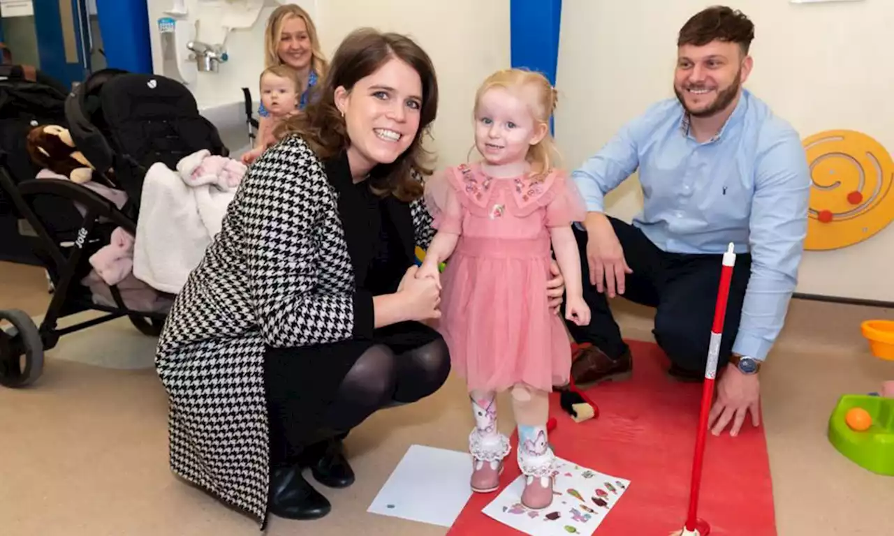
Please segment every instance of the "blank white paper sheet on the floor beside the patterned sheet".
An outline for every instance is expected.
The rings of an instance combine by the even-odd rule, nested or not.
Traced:
[[[412,445],[367,512],[450,527],[472,495],[468,452]]]

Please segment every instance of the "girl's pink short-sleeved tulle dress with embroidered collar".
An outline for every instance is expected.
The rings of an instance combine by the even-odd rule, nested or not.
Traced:
[[[549,309],[546,282],[550,228],[586,216],[574,183],[563,172],[493,178],[462,164],[426,182],[426,205],[435,229],[460,234],[442,274],[438,330],[468,390],[567,383],[569,337]]]

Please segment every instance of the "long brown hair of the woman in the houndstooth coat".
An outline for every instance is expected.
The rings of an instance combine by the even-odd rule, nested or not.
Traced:
[[[379,195],[392,194],[401,201],[422,196],[422,184],[413,171],[431,174],[424,161],[426,149],[422,136],[429,132],[438,109],[438,82],[428,54],[412,39],[375,29],[356,29],[335,51],[329,71],[311,89],[310,102],[302,113],[283,121],[276,129],[276,138],[298,134],[321,159],[339,155],[350,146],[344,118],[335,106],[335,89],[350,91],[358,80],[377,71],[384,63],[397,58],[408,63],[422,80],[422,107],[419,130],[409,148],[393,163],[379,164],[370,172],[370,186]]]

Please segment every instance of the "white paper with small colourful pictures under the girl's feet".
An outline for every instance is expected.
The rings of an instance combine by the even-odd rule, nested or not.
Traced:
[[[599,473],[564,459],[552,487],[552,505],[530,510],[521,504],[525,477],[519,476],[482,512],[530,536],[590,536],[630,487],[630,481]]]

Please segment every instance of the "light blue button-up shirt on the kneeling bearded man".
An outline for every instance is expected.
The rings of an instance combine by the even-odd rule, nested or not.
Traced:
[[[663,251],[752,255],[733,352],[763,360],[797,285],[811,176],[800,137],[743,90],[730,119],[699,143],[676,98],[651,106],[573,172],[587,210],[639,170],[644,207],[633,225]],[[718,261],[720,262],[720,261]]]

